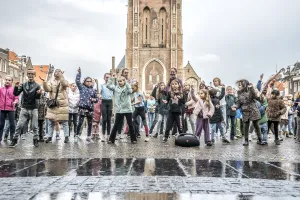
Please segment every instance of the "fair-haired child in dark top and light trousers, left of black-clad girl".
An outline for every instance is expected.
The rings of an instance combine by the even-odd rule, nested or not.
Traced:
[[[159,84],[159,88],[156,90],[158,122],[157,122],[156,133],[153,136],[154,138],[157,138],[158,134],[162,132],[161,129],[166,128],[166,122],[168,118],[168,105],[164,103],[164,101],[167,99],[167,92],[165,89],[166,89],[166,84],[164,82],[161,82]]]

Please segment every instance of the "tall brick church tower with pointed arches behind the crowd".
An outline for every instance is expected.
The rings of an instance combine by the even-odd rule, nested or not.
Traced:
[[[126,67],[150,92],[169,69],[183,77],[182,0],[128,0]]]

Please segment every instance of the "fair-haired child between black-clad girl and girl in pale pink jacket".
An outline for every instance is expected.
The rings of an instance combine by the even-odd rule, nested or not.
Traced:
[[[197,97],[195,96],[195,90],[189,83],[184,84],[184,92],[183,97],[185,103],[185,110],[184,110],[184,122],[183,122],[183,132],[187,132],[188,130],[188,123],[191,124],[192,133],[195,134],[195,118],[194,118],[194,109],[196,102],[198,102]]]

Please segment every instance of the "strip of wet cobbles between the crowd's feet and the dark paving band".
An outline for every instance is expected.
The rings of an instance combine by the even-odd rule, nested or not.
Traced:
[[[117,141],[115,145],[102,143],[87,144],[82,138],[77,144],[73,137],[69,144],[64,144],[63,139],[53,140],[52,144],[40,144],[39,148],[32,145],[32,135],[27,135],[25,141],[21,140],[15,149],[8,148],[8,143],[0,145],[0,160],[9,159],[32,159],[32,158],[180,158],[198,160],[249,160],[270,162],[295,162],[300,161],[300,145],[293,138],[284,139],[281,145],[274,144],[274,138],[269,139],[268,146],[259,146],[256,141],[249,147],[242,145],[243,141],[232,141],[230,145],[224,145],[217,141],[213,147],[203,145],[201,138],[200,147],[183,148],[174,145],[174,138],[167,144],[162,143],[162,138],[151,138],[145,143],[143,138],[138,144],[133,145],[127,140]]]

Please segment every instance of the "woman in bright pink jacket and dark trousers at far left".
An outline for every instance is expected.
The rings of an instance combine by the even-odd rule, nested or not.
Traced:
[[[0,88],[0,142],[2,141],[5,118],[8,117],[10,125],[10,139],[12,140],[15,133],[15,105],[19,102],[19,98],[15,96],[12,87],[13,78],[5,77],[5,85]]]

